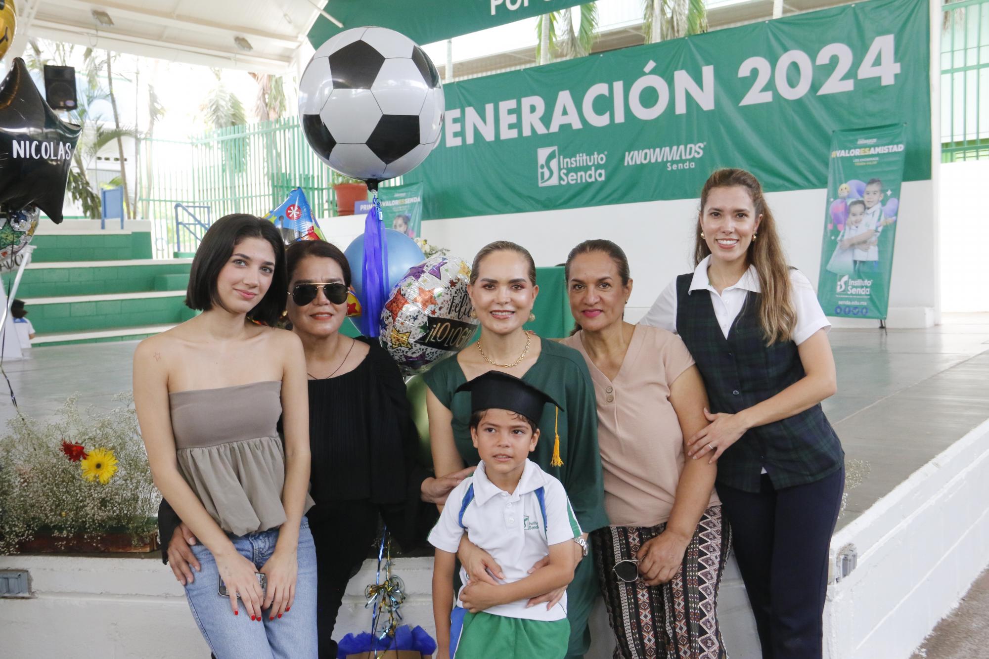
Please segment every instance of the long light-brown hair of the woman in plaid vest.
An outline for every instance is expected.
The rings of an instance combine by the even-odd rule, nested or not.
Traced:
[[[749,192],[756,217],[763,216],[759,224],[759,239],[753,239],[746,252],[746,261],[756,266],[763,295],[759,305],[759,324],[763,328],[766,345],[775,341],[788,341],[796,328],[797,315],[790,297],[790,272],[783,249],[776,234],[776,221],[769,211],[759,179],[745,169],[718,169],[704,183],[700,192],[700,217],[703,217],[707,196],[714,188],[742,187]],[[700,223],[694,230],[693,265],[696,267],[711,253],[701,236]]]

